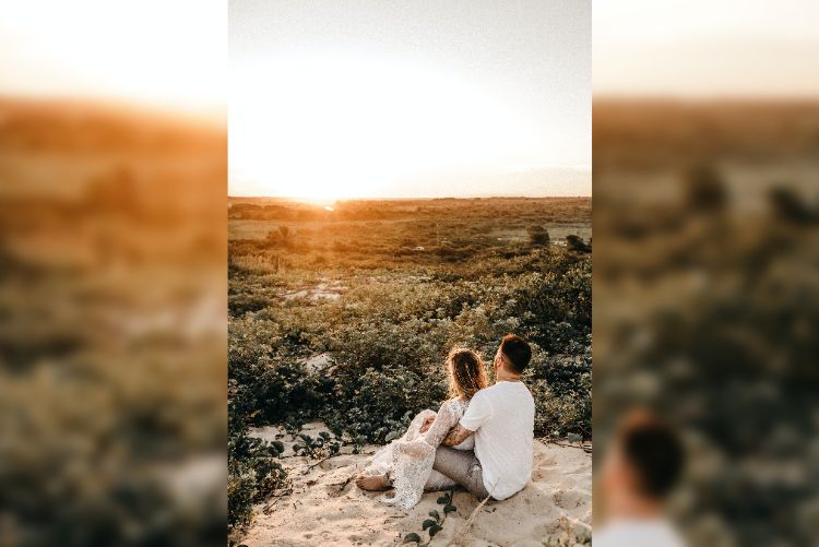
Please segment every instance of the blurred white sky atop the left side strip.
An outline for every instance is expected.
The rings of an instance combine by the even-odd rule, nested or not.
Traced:
[[[221,111],[224,120],[225,0],[0,1],[0,94]]]

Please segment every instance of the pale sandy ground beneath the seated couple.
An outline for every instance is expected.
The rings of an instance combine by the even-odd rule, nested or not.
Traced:
[[[321,424],[305,427],[305,432],[313,437],[321,430],[325,430]],[[285,455],[293,453],[290,436],[283,436],[275,427],[256,429],[253,435],[281,440],[287,444]],[[407,511],[380,502],[381,494],[365,492],[346,483],[364,469],[377,449],[368,445],[364,453],[352,454],[352,447],[344,447],[342,454],[320,463],[301,456],[285,457],[293,491],[257,508],[242,543],[249,547],[397,545],[410,532],[426,539],[422,523],[430,510],[441,510],[436,503],[440,494],[425,494]],[[478,500],[466,491],[455,491],[458,511],[448,515],[431,545],[542,546],[546,537],[571,537],[569,545],[580,537],[585,543],[591,535],[591,454],[577,444],[536,440],[529,485],[510,499],[486,503],[468,528],[465,523]]]

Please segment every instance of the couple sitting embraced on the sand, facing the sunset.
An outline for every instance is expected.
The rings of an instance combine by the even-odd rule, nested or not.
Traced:
[[[447,358],[452,399],[423,411],[407,431],[382,448],[356,477],[364,490],[394,489],[384,501],[415,506],[424,491],[460,485],[480,499],[503,500],[532,474],[535,405],[521,374],[532,350],[514,334],[500,343],[487,387],[480,357],[455,348]]]

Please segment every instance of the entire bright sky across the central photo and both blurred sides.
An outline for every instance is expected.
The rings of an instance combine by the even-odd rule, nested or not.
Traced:
[[[595,96],[819,96],[814,0],[0,2],[0,95],[229,97],[235,195],[587,195],[592,53]]]

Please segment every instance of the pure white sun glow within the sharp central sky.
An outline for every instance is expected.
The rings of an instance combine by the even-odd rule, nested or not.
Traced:
[[[428,67],[304,53],[232,66],[229,131],[246,192],[311,200],[525,163],[544,138],[491,90]]]

